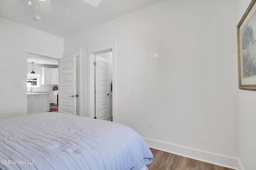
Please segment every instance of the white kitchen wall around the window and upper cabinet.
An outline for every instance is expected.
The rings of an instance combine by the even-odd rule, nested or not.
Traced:
[[[34,72],[36,72],[37,74],[39,74],[39,87],[35,87],[34,86],[34,91],[39,91],[39,92],[43,92],[43,91],[53,91],[53,87],[58,85],[50,85],[50,84],[42,84],[42,67],[46,67],[46,68],[58,68],[58,65],[48,65],[48,64],[36,64],[34,63]],[[32,71],[32,63],[28,63],[28,73],[30,73]],[[30,91],[31,87],[27,87],[27,90]]]

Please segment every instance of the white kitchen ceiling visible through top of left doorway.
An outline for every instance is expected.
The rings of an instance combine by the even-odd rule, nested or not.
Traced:
[[[34,62],[35,64],[48,64],[48,65],[58,65],[58,60],[50,59],[47,57],[41,57],[38,55],[28,54],[28,63]]]

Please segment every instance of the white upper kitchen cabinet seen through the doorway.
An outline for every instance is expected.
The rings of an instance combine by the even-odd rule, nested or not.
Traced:
[[[58,84],[58,68],[42,67],[42,84]]]

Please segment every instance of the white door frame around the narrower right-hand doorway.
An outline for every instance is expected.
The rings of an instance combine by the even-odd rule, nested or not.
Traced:
[[[94,117],[94,99],[95,99],[95,89],[94,89],[94,55],[112,51],[112,105],[113,105],[113,121],[117,122],[116,114],[116,40],[109,41],[106,43],[101,43],[98,45],[93,45],[87,48],[87,59],[88,59],[88,117]],[[92,102],[91,102],[92,101]]]

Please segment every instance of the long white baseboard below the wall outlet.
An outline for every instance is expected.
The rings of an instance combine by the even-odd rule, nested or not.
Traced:
[[[210,152],[204,152],[202,150],[191,149],[188,147],[173,145],[170,143],[156,141],[148,138],[143,138],[143,139],[147,143],[148,147],[150,148],[162,150],[165,152],[177,154],[180,156],[185,156],[188,158],[208,162],[208,163],[219,165],[219,166],[224,166],[226,168],[243,170],[243,168],[241,168],[242,166],[240,164],[240,161],[237,158],[222,156],[222,155],[213,154]]]

